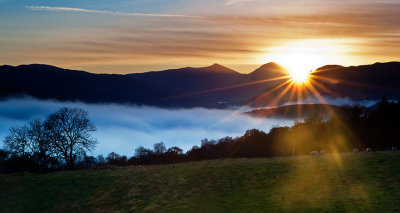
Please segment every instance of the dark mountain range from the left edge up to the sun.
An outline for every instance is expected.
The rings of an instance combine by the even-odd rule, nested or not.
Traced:
[[[219,64],[128,75],[93,74],[43,64],[0,66],[1,98],[29,95],[89,103],[221,108],[246,104],[277,83],[251,82],[250,75]]]

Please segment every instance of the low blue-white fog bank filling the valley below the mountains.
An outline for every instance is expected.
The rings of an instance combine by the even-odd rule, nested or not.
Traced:
[[[89,112],[97,126],[94,136],[99,142],[93,155],[114,151],[132,156],[138,146],[152,148],[160,141],[167,147],[179,146],[187,151],[193,145],[200,145],[204,138],[236,137],[248,129],[268,132],[274,126],[293,125],[293,120],[253,118],[234,109],[161,109],[22,98],[0,101],[1,146],[10,126],[36,118],[43,120],[61,107],[79,107]]]

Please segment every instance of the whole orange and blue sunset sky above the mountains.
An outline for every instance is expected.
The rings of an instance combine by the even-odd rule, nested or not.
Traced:
[[[242,73],[400,58],[398,0],[0,0],[0,64]]]

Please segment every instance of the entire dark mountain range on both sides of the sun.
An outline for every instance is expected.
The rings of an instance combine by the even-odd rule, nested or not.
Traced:
[[[267,106],[277,97],[283,104],[293,100],[287,84],[288,71],[268,63],[249,74],[219,64],[164,71],[94,74],[59,67],[31,64],[0,66],[0,98],[29,95],[41,99],[89,103],[131,103],[160,107],[224,108],[251,104]],[[343,67],[327,65],[311,74],[315,88],[323,96],[355,100],[389,99],[400,96],[400,63]],[[283,90],[286,94],[280,96]],[[308,94],[310,95],[310,94]],[[303,94],[303,97],[307,93]]]

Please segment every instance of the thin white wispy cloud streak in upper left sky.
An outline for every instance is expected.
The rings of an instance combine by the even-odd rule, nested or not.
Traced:
[[[61,11],[61,12],[83,12],[83,13],[99,13],[109,14],[117,16],[149,16],[149,17],[177,17],[177,18],[202,18],[201,16],[190,16],[182,14],[159,14],[159,13],[126,13],[119,11],[108,11],[108,10],[90,10],[84,8],[73,8],[73,7],[48,7],[48,6],[25,6],[31,10],[40,11]]]

